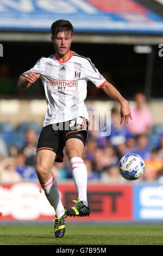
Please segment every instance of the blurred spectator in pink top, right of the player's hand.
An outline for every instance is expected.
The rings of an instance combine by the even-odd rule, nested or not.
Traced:
[[[147,107],[146,96],[136,93],[134,96],[135,107],[131,107],[132,120],[129,120],[128,129],[134,135],[149,133],[152,129],[152,114]]]

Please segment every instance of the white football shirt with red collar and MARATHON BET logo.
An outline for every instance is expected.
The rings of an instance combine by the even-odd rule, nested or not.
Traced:
[[[97,88],[105,82],[90,58],[71,51],[70,58],[61,62],[56,54],[42,57],[35,66],[22,75],[28,77],[30,72],[40,74],[45,88],[47,113],[43,126],[84,117],[89,120],[84,100],[87,94],[87,81]]]

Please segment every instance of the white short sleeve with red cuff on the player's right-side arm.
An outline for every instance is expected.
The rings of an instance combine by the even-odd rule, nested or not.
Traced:
[[[85,77],[87,81],[91,81],[97,88],[103,86],[107,81],[96,69],[95,65],[91,62],[90,58],[87,58],[87,62],[84,65]]]

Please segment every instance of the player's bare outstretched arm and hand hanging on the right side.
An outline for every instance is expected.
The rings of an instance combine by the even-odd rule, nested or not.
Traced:
[[[124,125],[126,126],[129,122],[129,118],[132,119],[131,113],[130,113],[130,107],[129,103],[118,90],[112,86],[111,83],[106,82],[101,86],[101,89],[113,100],[117,100],[121,103],[121,109],[120,109],[120,114],[121,114],[121,121],[120,123],[122,124],[124,121]]]

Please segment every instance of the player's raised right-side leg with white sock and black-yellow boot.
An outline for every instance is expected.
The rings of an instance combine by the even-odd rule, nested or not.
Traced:
[[[80,133],[85,136],[84,133]],[[84,144],[78,138],[69,138],[65,143],[65,151],[72,167],[74,184],[78,191],[78,200],[73,200],[75,205],[67,210],[68,216],[89,216],[90,209],[87,203],[87,169],[82,159]]]

